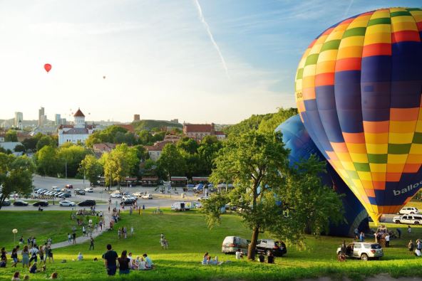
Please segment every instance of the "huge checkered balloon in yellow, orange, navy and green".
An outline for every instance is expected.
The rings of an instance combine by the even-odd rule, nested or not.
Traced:
[[[353,16],[307,48],[295,93],[307,132],[374,221],[422,187],[422,9]]]

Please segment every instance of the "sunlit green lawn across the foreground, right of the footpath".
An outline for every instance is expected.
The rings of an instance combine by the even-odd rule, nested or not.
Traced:
[[[8,225],[9,221],[4,223]],[[384,249],[385,257],[379,261],[347,260],[346,263],[339,263],[336,261],[335,251],[343,238],[324,236],[317,239],[309,236],[306,250],[297,250],[288,245],[287,255],[277,258],[275,265],[268,265],[237,261],[233,255],[220,253],[221,243],[226,235],[250,237],[250,231],[243,228],[240,219],[232,214],[223,216],[221,226],[212,230],[206,227],[203,215],[196,211],[165,211],[163,215],[154,215],[151,210],[146,210],[141,216],[124,213],[123,220],[116,228],[122,226],[133,226],[135,235],[126,240],[118,240],[117,231],[113,230],[96,238],[96,250],[89,251],[88,243],[54,250],[56,263],[47,265],[47,274],[57,271],[66,280],[107,280],[101,255],[105,252],[105,245],[111,243],[119,255],[122,250],[133,252],[134,256],[148,253],[157,265],[155,270],[148,272],[130,272],[123,280],[293,280],[344,275],[352,280],[359,280],[366,275],[381,272],[393,276],[422,275],[421,259],[409,255],[406,248],[408,239],[422,237],[420,227],[413,227],[411,235],[408,235],[406,226],[400,225],[403,228],[402,239],[392,240],[391,248]],[[397,226],[393,224],[390,227],[395,229]],[[160,248],[160,233],[168,238],[170,250]],[[265,237],[262,235],[262,238]],[[83,253],[84,261],[73,261],[78,252]],[[220,260],[231,260],[232,263],[220,266],[200,265],[205,252],[218,255]],[[100,261],[93,261],[94,258]],[[66,263],[60,263],[64,259]],[[0,280],[10,280],[14,269],[7,267],[1,270],[4,272],[0,275]],[[45,279],[44,273],[31,276],[31,280]]]

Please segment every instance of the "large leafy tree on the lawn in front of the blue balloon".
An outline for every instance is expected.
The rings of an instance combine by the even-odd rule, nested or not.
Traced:
[[[254,249],[262,231],[269,231],[279,238],[289,238],[295,233],[293,242],[303,241],[309,217],[303,212],[303,217],[299,217],[294,212],[317,208],[318,212],[312,213],[312,220],[317,223],[310,225],[310,229],[320,233],[320,227],[328,223],[331,213],[341,210],[341,202],[334,191],[321,186],[318,181],[321,166],[303,165],[301,174],[297,174],[289,169],[288,155],[281,134],[250,131],[230,137],[215,159],[216,168],[210,181],[215,185],[232,182],[235,188],[205,201],[207,222],[213,226],[220,221],[220,211],[217,210],[224,203],[240,206],[242,221],[252,230],[249,260],[254,260]],[[309,193],[309,189],[317,191]],[[321,202],[325,203],[327,198],[332,209],[316,206],[323,205]]]

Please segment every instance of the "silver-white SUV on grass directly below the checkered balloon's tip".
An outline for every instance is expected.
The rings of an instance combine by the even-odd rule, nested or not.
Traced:
[[[337,255],[341,254],[341,246],[337,248],[336,253]],[[360,258],[361,260],[375,258],[379,260],[382,256],[384,256],[384,252],[379,243],[355,242],[346,246],[347,258]]]

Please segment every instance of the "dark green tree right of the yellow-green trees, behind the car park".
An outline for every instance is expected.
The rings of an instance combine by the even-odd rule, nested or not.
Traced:
[[[175,174],[185,174],[185,160],[174,144],[165,144],[158,165],[169,179]]]

